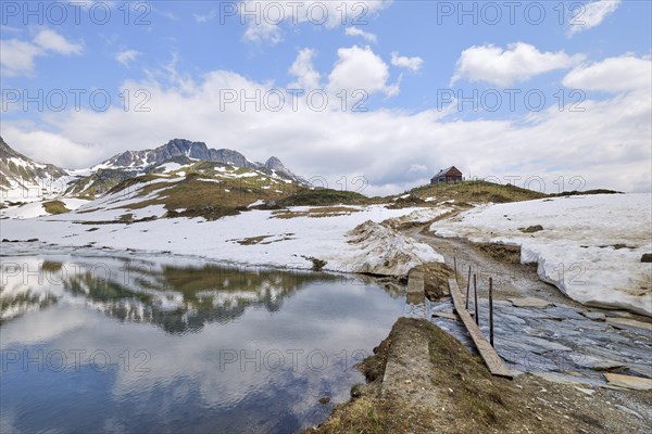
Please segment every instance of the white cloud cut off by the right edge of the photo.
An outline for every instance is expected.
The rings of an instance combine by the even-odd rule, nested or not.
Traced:
[[[580,65],[563,79],[568,88],[606,92],[645,91],[652,87],[652,61],[631,55],[609,58],[590,65]]]

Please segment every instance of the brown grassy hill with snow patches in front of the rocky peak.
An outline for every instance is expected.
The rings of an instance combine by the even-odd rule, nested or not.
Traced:
[[[104,171],[98,171],[95,177]],[[261,170],[222,163],[168,162],[148,174],[123,181],[82,206],[75,216],[84,221],[139,221],[161,217],[204,217],[214,220],[236,215],[252,204],[272,203],[308,190]],[[111,170],[115,171],[115,170]],[[85,192],[96,191],[90,182]]]

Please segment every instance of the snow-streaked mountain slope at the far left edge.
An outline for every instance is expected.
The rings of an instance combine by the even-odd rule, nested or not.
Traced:
[[[0,137],[0,207],[58,196],[70,179],[66,170],[36,163]]]

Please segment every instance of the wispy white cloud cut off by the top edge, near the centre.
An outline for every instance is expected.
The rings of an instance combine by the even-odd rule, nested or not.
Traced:
[[[274,46],[283,40],[281,25],[284,23],[291,25],[309,23],[313,26],[324,26],[329,29],[342,24],[364,23],[389,7],[392,1],[305,0],[301,2],[271,2],[266,0],[242,0],[238,4],[238,12],[240,17],[247,22],[246,40],[259,43],[266,42]]]

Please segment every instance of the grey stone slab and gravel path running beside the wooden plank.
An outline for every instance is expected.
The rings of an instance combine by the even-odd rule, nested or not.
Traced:
[[[488,281],[489,277],[493,278],[494,346],[511,368],[589,387],[605,385],[603,373],[607,371],[652,379],[649,318],[587,308],[539,280],[536,267],[496,260],[464,240],[438,238],[422,228],[405,232],[432,245],[450,267],[455,258],[462,291],[466,290],[468,267],[472,273],[477,273],[480,328],[487,336]],[[473,311],[473,296],[471,298],[469,310]],[[424,306],[408,307],[406,314],[431,318],[473,350],[462,322],[431,317],[437,310],[452,312],[452,302],[449,298],[426,302]]]

